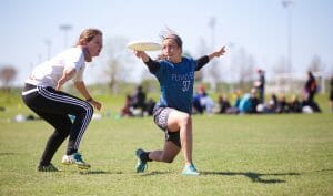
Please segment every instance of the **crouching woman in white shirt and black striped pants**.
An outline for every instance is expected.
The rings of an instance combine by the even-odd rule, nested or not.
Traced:
[[[58,171],[51,164],[51,159],[68,136],[69,142],[62,163],[74,164],[79,168],[90,167],[82,159],[78,149],[91,121],[93,107],[100,110],[101,103],[92,99],[84,85],[82,75],[85,62],[91,62],[92,58],[98,56],[102,45],[102,32],[98,29],[85,29],[80,34],[75,47],[38,65],[26,81],[22,91],[23,102],[54,127],[37,171]],[[61,91],[62,85],[71,79],[84,100]],[[75,116],[73,122],[69,115]]]

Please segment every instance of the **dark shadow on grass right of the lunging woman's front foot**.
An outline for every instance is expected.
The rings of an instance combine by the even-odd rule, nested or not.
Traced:
[[[254,173],[254,172],[201,172],[201,175],[245,176],[253,183],[275,184],[285,183],[282,179],[263,179],[264,176],[299,176],[300,173]]]

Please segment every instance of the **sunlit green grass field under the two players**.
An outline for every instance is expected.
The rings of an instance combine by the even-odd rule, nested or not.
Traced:
[[[0,112],[1,196],[333,195],[329,112],[193,116],[193,156],[201,176],[189,177],[181,175],[181,154],[172,164],[151,163],[145,174],[137,174],[134,151],[160,148],[163,134],[150,117],[117,120],[112,114],[92,121],[82,140],[91,169],[61,165],[62,145],[52,161],[61,172],[36,172],[52,128],[43,121],[6,118],[18,111],[28,112],[20,104]]]

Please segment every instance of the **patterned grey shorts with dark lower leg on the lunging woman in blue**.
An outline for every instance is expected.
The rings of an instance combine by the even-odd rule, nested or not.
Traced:
[[[180,131],[169,132],[168,131],[168,117],[173,109],[170,107],[154,107],[153,120],[154,123],[165,133],[165,141],[172,142],[178,147],[181,147]]]

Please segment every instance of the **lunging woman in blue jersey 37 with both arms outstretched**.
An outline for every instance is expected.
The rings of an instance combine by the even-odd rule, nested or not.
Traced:
[[[164,131],[161,151],[137,149],[137,172],[147,168],[147,162],[172,163],[182,149],[185,166],[183,175],[199,175],[192,161],[192,97],[194,72],[213,58],[224,54],[224,47],[198,60],[182,56],[182,40],[175,33],[162,37],[162,59],[154,61],[143,51],[134,51],[160,83],[161,97],[153,111],[154,123]]]

